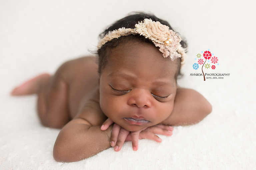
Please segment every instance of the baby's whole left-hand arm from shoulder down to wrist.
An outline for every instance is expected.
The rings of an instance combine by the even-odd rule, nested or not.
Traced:
[[[74,162],[93,156],[110,147],[110,126],[102,131],[106,119],[96,99],[88,100],[78,115],[60,131],[53,148],[56,161]],[[99,119],[97,119],[99,118]]]

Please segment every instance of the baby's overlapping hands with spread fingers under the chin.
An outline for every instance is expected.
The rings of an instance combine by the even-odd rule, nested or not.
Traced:
[[[106,130],[114,122],[109,118],[101,126],[101,130]],[[173,127],[166,125],[155,125],[147,128],[143,128],[139,131],[130,132],[117,124],[114,124],[110,145],[114,147],[115,151],[121,150],[124,141],[132,141],[133,150],[138,150],[138,140],[142,138],[153,139],[156,142],[162,142],[162,139],[159,138],[156,134],[163,134],[166,136],[172,135]]]

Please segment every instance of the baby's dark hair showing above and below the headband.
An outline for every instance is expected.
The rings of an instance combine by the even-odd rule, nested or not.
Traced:
[[[159,21],[161,24],[168,26],[171,30],[172,27],[170,26],[170,24],[165,21],[165,20],[161,20],[159,18],[157,18],[156,16],[154,16],[153,14],[148,14],[148,13],[143,13],[143,12],[135,12],[131,15],[128,15],[118,21],[116,21],[113,25],[111,25],[108,29],[106,29],[103,33],[101,33],[99,35],[99,38],[102,39],[105,35],[107,35],[110,31],[114,31],[117,30],[119,28],[131,28],[134,29],[135,28],[135,24],[138,24],[138,22],[143,21],[144,19],[151,19],[152,21]],[[153,42],[147,38],[145,38],[144,36],[141,36],[139,34],[137,35],[128,35],[128,36],[123,36],[123,37],[119,37],[118,39],[112,39],[109,42],[106,42],[104,45],[102,45],[98,50],[97,50],[97,54],[99,57],[99,68],[98,68],[98,72],[101,73],[101,70],[104,68],[104,66],[106,65],[107,61],[108,61],[108,55],[109,55],[109,49],[116,47],[120,42],[125,42],[127,40],[130,39],[137,39],[143,42],[147,42],[147,43],[152,43]],[[183,48],[187,48],[187,43],[182,40],[180,42],[181,46]],[[180,60],[180,58],[179,58]],[[179,62],[178,65],[178,71],[175,75],[175,78],[177,78],[178,75],[181,75],[180,73],[180,67],[181,64]]]

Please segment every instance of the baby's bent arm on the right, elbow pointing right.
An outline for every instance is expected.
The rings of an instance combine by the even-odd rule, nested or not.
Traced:
[[[163,125],[193,125],[212,112],[211,104],[197,91],[177,88],[171,115],[161,122]]]

